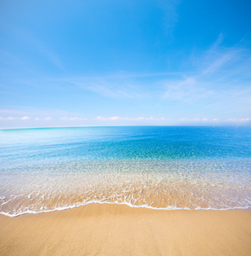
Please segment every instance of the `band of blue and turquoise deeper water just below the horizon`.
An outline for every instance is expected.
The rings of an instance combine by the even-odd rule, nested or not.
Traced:
[[[0,131],[0,156],[23,160],[250,159],[250,127],[88,127]]]

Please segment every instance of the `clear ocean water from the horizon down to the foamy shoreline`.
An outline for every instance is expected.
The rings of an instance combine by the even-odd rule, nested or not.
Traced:
[[[0,212],[251,207],[251,127],[0,131]]]

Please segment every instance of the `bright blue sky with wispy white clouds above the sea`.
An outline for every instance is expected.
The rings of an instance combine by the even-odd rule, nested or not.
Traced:
[[[0,2],[0,128],[251,125],[251,1]]]

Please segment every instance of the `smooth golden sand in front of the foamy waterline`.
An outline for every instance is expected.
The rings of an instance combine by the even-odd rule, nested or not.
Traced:
[[[251,212],[91,204],[0,215],[0,255],[251,255]]]

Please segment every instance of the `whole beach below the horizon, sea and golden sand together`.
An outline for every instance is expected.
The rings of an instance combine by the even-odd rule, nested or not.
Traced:
[[[249,127],[16,129],[0,142],[0,255],[251,255]]]

